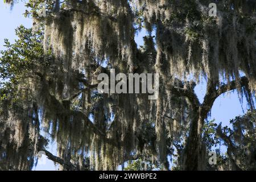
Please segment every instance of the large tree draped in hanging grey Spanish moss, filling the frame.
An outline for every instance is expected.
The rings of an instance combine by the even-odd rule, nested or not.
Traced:
[[[46,16],[39,14],[43,2]],[[206,169],[203,126],[214,100],[236,89],[253,109],[256,89],[255,2],[216,1],[216,17],[209,3],[28,1],[34,26],[22,28],[15,44],[6,42],[0,62],[3,167],[30,169],[46,151],[68,170],[116,169],[138,156],[170,169],[174,155],[180,169]],[[148,35],[137,48],[141,28]],[[110,68],[159,73],[158,99],[99,93],[97,75]],[[207,93],[200,103],[194,88],[202,77]],[[46,150],[42,129],[56,140],[57,156]]]

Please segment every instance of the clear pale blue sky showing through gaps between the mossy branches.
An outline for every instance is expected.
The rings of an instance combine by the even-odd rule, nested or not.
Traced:
[[[1,34],[0,34],[0,49],[3,47],[3,39],[8,38],[11,43],[16,39],[15,28],[20,24],[23,24],[25,27],[32,26],[32,20],[29,18],[24,18],[22,15],[24,13],[24,3],[18,3],[14,6],[13,10],[10,10],[9,6],[3,4],[3,1],[0,0],[0,23],[1,23]],[[143,36],[146,35],[146,31],[140,32],[135,41],[137,44],[141,45],[143,43]],[[195,91],[200,101],[203,101],[205,94],[205,82],[202,82],[200,85],[197,85]],[[246,111],[246,101],[243,102],[243,109]],[[237,115],[243,114],[240,101],[237,97],[236,92],[229,92],[225,95],[222,95],[217,98],[214,102],[212,108],[212,116],[210,119],[216,119],[216,123],[222,122],[222,126],[228,125],[229,120],[233,119]],[[49,150],[56,155],[56,144],[52,145]],[[46,165],[38,165],[36,170],[55,170],[55,166],[51,160],[46,160]]]

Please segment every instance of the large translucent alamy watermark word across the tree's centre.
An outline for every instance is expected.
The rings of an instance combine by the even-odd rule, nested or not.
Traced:
[[[110,69],[110,79],[106,73],[100,73],[97,80],[101,81],[97,88],[100,93],[148,93],[151,94],[148,100],[156,100],[159,95],[158,73],[118,73],[115,76],[115,69]],[[119,82],[115,84],[116,81]]]

